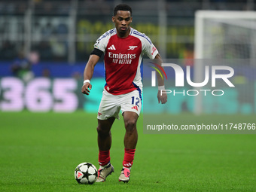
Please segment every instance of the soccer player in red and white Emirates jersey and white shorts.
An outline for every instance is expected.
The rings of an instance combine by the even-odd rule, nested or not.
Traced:
[[[81,92],[89,95],[92,88],[90,79],[99,58],[104,54],[105,87],[98,111],[99,170],[96,182],[104,182],[114,172],[110,163],[111,126],[119,111],[123,115],[126,133],[124,136],[123,169],[119,181],[130,180],[134,154],[138,140],[136,122],[142,108],[142,78],[140,65],[145,53],[150,59],[161,62],[160,54],[151,40],[130,27],[133,21],[129,5],[117,5],[112,21],[114,29],[105,32],[94,44],[94,49],[84,69],[84,85]],[[157,77],[159,90],[164,90],[164,82]],[[167,102],[166,94],[157,93],[158,102]]]

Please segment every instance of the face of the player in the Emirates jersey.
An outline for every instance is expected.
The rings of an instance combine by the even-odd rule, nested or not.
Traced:
[[[130,11],[117,11],[117,14],[112,17],[112,21],[117,29],[117,33],[121,36],[130,33],[130,23],[132,23]]]

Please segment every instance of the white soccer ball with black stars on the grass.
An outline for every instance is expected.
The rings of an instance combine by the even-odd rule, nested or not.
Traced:
[[[80,163],[75,168],[75,179],[79,184],[93,184],[97,177],[98,171],[92,163]]]

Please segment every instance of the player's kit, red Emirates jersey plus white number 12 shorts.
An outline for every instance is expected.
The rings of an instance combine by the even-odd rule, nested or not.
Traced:
[[[136,29],[130,29],[130,35],[126,38],[119,38],[116,29],[111,29],[105,32],[94,44],[94,48],[105,53],[106,84],[98,114],[98,118],[102,120],[115,117],[116,111],[114,114],[111,112],[111,109],[113,109],[111,103],[116,105],[115,107],[119,105],[115,96],[123,95],[123,99],[126,99],[127,106],[121,102],[123,105],[122,112],[135,111],[139,114],[141,110],[142,76],[140,66],[142,56],[145,53],[150,59],[154,59],[158,51],[145,34],[138,32]],[[134,92],[134,90],[137,91]],[[127,100],[124,95],[131,92],[136,94],[134,96],[130,95],[130,99]],[[111,95],[112,97],[109,99]],[[108,99],[105,96],[108,96]],[[137,100],[138,96],[140,104]]]

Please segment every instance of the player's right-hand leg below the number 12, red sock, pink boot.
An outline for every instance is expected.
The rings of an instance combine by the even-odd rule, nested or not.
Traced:
[[[138,141],[138,132],[136,123],[138,114],[133,111],[124,111],[123,120],[126,133],[123,139],[124,142],[124,158],[123,169],[120,173],[119,181],[128,182],[130,180],[130,169],[133,166],[134,154]]]

